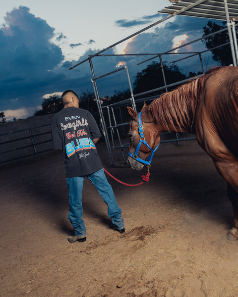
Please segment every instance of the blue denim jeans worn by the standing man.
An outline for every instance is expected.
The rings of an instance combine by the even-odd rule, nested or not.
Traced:
[[[74,227],[76,236],[86,236],[86,227],[82,220],[82,191],[84,178],[85,176],[67,178],[69,195],[68,218]],[[124,221],[121,216],[121,209],[118,206],[113,189],[104,174],[104,169],[87,175],[87,178],[94,184],[102,199],[107,203],[108,216],[112,218],[113,224],[116,225],[119,230],[123,229]]]

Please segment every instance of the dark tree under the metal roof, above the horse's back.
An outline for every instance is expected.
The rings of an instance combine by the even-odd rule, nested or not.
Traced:
[[[226,22],[223,22],[223,25],[218,25],[215,22],[209,21],[207,25],[203,27],[204,34],[202,37],[226,28],[225,23]],[[212,49],[230,42],[228,31],[226,30],[210,37],[204,38],[202,39],[202,42],[205,44],[207,49]],[[230,45],[212,49],[211,52],[212,58],[214,59],[214,61],[218,62],[220,66],[228,66],[233,63]]]

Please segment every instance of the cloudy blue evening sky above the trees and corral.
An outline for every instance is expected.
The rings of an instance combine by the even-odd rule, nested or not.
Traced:
[[[89,62],[69,68],[116,42],[166,17],[158,13],[169,0],[7,0],[0,2],[0,112],[6,120],[32,116],[45,98],[65,90],[93,92]],[[208,19],[176,16],[105,51],[161,53],[200,38]],[[218,22],[218,21],[217,21]],[[219,22],[218,22],[219,23]],[[201,42],[178,52],[205,50]],[[182,55],[164,55],[172,62]],[[148,56],[92,59],[95,76],[128,66],[131,84],[150,62]],[[202,55],[204,70],[215,66],[211,53]],[[184,74],[201,71],[199,57],[176,63]],[[129,88],[124,70],[97,81],[100,97]]]

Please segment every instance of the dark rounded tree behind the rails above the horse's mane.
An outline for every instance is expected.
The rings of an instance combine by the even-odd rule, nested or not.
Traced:
[[[164,62],[164,73],[167,85],[186,78],[185,74],[180,72],[177,65],[171,65],[167,62]],[[149,91],[162,86],[164,86],[164,79],[161,70],[161,64],[158,62],[152,62],[141,72],[138,72],[133,83],[134,94]],[[156,92],[155,95],[159,95],[164,91],[165,90]]]

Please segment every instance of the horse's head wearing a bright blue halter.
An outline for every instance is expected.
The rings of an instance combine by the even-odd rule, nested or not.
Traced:
[[[141,113],[136,113],[129,106],[127,109],[132,117],[127,134],[130,139],[127,162],[133,169],[140,170],[144,164],[150,164],[146,159],[151,152],[153,156],[155,149],[158,148],[162,131],[158,129],[158,124],[148,112],[146,103]]]

